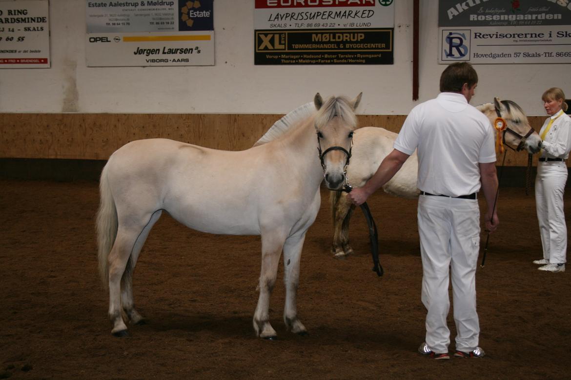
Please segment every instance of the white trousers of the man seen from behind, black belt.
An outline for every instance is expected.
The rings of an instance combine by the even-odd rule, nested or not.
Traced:
[[[417,217],[428,348],[436,353],[448,352],[450,330],[446,318],[450,308],[451,273],[456,349],[475,350],[480,336],[476,312],[476,266],[480,251],[478,201],[420,195]]]

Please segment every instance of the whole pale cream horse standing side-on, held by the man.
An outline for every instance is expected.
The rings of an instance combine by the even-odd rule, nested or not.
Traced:
[[[339,189],[357,119],[355,100],[315,96],[309,116],[241,152],[165,139],[132,141],[111,154],[99,183],[99,270],[109,289],[111,333],[127,334],[143,317],[135,310],[132,272],[148,233],[163,211],[187,227],[212,234],[261,235],[262,268],[254,313],[256,335],[275,338],[268,308],[283,251],[284,322],[306,333],[297,317],[296,291],[305,232],[320,206],[319,187]],[[317,136],[316,136],[317,134]],[[316,153],[316,147],[325,149]],[[320,162],[321,161],[321,162]]]

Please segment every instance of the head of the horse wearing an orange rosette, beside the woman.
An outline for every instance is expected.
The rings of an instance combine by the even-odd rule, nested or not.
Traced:
[[[528,117],[519,105],[511,100],[500,100],[494,97],[494,111],[497,118],[494,128],[505,121],[503,130],[504,143],[514,150],[527,149],[529,153],[537,153],[541,146],[541,137],[529,125]],[[492,115],[493,117],[493,115]],[[499,124],[498,124],[498,119]]]

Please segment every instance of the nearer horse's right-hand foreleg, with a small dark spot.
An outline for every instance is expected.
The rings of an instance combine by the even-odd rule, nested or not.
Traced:
[[[284,283],[286,284],[286,307],[284,308],[284,322],[291,332],[305,335],[307,330],[297,318],[297,287],[299,285],[299,263],[301,249],[305,240],[305,232],[290,236],[284,244]]]

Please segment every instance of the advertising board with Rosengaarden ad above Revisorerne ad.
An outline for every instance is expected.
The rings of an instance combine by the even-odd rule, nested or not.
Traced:
[[[439,0],[438,62],[570,63],[569,0]]]

